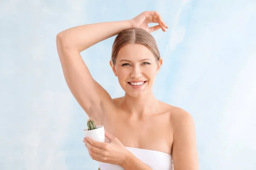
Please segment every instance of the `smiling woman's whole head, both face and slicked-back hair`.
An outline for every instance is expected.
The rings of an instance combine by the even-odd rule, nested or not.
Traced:
[[[124,91],[133,97],[150,93],[162,64],[154,37],[142,28],[127,29],[116,37],[112,49],[110,65]]]

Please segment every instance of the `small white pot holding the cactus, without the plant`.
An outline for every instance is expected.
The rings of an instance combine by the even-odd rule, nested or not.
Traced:
[[[105,130],[103,125],[96,126],[96,129],[87,130],[84,129],[84,136],[90,137],[98,142],[105,142]]]

